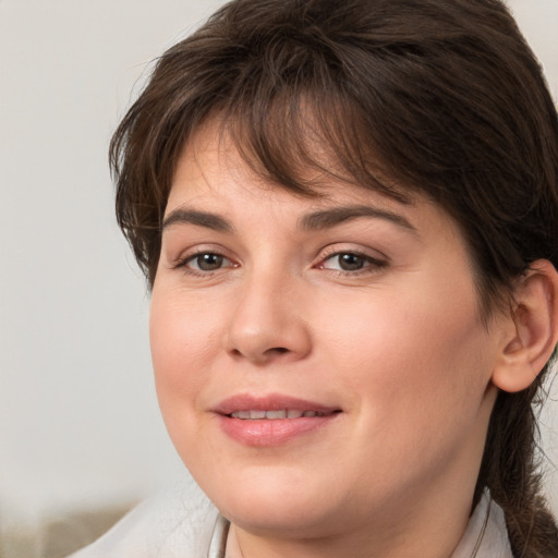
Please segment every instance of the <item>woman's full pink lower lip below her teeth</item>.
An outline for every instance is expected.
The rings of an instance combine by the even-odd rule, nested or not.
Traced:
[[[220,415],[225,434],[246,446],[279,446],[304,434],[323,428],[339,413],[300,418],[243,420]]]

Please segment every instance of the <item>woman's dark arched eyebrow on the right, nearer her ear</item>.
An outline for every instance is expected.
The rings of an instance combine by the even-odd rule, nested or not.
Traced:
[[[385,219],[398,227],[417,232],[416,228],[402,215],[372,207],[368,205],[350,205],[344,207],[332,207],[331,209],[323,209],[304,216],[300,221],[300,228],[306,230],[330,229],[338,225],[359,217],[372,217],[375,219]]]

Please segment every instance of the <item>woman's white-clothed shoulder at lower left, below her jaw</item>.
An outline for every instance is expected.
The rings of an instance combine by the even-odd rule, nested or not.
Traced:
[[[199,558],[218,523],[217,509],[192,483],[145,500],[70,558]]]

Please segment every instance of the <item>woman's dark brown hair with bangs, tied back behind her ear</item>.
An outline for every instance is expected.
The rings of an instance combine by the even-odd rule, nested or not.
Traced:
[[[110,149],[118,220],[149,284],[177,159],[217,116],[280,187],[315,194],[314,168],[434,199],[469,243],[487,320],[533,262],[558,267],[557,113],[499,0],[233,0],[169,49]],[[535,461],[548,368],[499,393],[475,494],[490,489],[521,557],[558,556]]]

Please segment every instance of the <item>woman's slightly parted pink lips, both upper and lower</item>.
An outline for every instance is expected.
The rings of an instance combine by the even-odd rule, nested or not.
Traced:
[[[272,395],[239,395],[221,401],[214,412],[223,433],[246,446],[277,446],[330,424],[341,413],[314,401]]]

